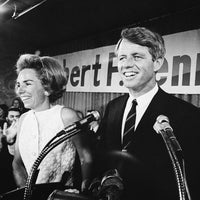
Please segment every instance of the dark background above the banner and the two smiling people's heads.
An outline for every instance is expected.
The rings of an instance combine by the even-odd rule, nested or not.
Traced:
[[[0,9],[5,2],[0,0]],[[4,7],[0,103],[14,96],[14,65],[22,53],[39,49],[54,56],[113,45],[127,26],[146,26],[162,35],[200,27],[199,0],[9,0]]]

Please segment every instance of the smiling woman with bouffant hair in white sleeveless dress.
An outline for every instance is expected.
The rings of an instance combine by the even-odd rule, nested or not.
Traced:
[[[16,68],[16,93],[30,109],[19,119],[13,160],[16,183],[23,187],[34,161],[47,142],[64,127],[80,119],[73,109],[53,105],[62,97],[67,83],[66,72],[56,59],[24,54],[19,57]],[[36,183],[62,182],[76,187],[77,177],[73,176],[73,172],[77,158],[82,176],[78,177],[81,181],[78,189],[85,191],[92,171],[92,155],[84,133],[64,141],[44,158]]]

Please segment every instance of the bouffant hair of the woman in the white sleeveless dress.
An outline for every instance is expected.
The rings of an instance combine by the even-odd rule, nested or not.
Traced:
[[[17,74],[23,69],[33,69],[36,71],[44,89],[50,94],[50,103],[54,103],[62,97],[66,90],[67,75],[64,67],[55,58],[23,54],[16,63]]]

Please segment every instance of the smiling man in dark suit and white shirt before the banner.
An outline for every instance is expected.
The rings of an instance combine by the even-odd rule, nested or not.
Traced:
[[[163,38],[146,28],[124,29],[116,46],[118,71],[128,88],[110,101],[100,123],[98,168],[100,174],[116,168],[124,184],[123,200],[177,200],[181,197],[175,170],[165,142],[153,126],[160,115],[169,118],[182,147],[185,175],[192,199],[199,199],[198,180],[200,112],[197,107],[164,92],[156,82],[163,64]],[[131,138],[123,146],[125,121],[132,100],[137,101]],[[101,166],[101,167],[100,167]],[[189,192],[185,192],[186,199]],[[188,198],[188,199],[189,199]]]

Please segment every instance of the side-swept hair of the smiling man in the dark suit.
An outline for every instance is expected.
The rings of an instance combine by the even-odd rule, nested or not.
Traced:
[[[134,44],[148,47],[153,61],[158,58],[164,58],[165,56],[165,43],[162,36],[145,27],[123,29],[121,31],[121,38],[115,48],[116,54],[123,39],[126,39]]]

